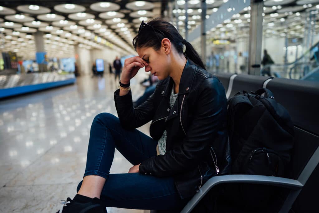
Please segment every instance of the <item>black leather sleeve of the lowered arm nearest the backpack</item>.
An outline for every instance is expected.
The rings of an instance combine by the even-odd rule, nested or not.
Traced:
[[[195,118],[182,146],[165,155],[148,158],[139,166],[140,173],[170,177],[195,168],[209,150],[221,125],[226,122],[225,90],[216,78],[208,78],[198,88]]]

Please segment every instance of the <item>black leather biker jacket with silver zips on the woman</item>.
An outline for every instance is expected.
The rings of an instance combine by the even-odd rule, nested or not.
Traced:
[[[140,173],[174,177],[182,199],[193,196],[216,175],[228,173],[230,149],[227,133],[227,100],[220,81],[187,60],[173,108],[169,98],[174,81],[160,80],[154,93],[134,109],[131,91],[119,96],[115,107],[125,129],[135,129],[152,120],[150,135],[159,140],[167,131],[165,155],[153,156],[139,166]]]

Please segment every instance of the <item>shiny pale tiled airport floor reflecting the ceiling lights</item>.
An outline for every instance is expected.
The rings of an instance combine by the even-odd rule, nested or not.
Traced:
[[[144,91],[138,83],[144,77],[139,72],[131,80],[133,100]],[[0,212],[56,212],[59,200],[74,197],[94,116],[117,115],[116,87],[113,75],[85,76],[71,86],[0,101]],[[146,124],[139,130],[149,134],[148,128]],[[131,166],[115,150],[111,173],[127,173]]]

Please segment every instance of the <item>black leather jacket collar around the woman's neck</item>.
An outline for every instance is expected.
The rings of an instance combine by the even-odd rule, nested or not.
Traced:
[[[196,72],[197,72],[197,65],[190,59],[187,59],[187,62],[183,69],[181,80],[180,80],[180,85],[178,89],[179,95],[189,93],[189,91],[192,88],[192,84],[193,84],[193,80],[194,80],[194,76]],[[166,96],[166,97],[170,96],[173,84],[174,84],[174,80],[171,77],[169,77],[169,81],[166,85],[164,93],[162,94],[163,96]]]

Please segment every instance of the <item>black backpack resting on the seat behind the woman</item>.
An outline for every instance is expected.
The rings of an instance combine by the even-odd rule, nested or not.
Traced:
[[[233,174],[284,176],[293,148],[293,122],[270,90],[243,91],[228,99],[228,125]],[[232,192],[243,208],[256,211],[269,202],[275,188],[237,184]]]

